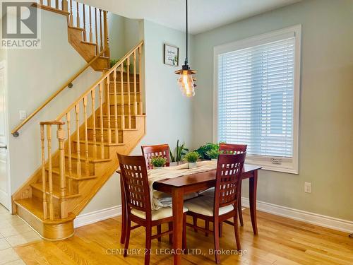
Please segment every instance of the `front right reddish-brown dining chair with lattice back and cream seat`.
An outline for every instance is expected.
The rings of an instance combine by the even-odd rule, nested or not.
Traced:
[[[220,223],[225,222],[234,226],[237,249],[241,249],[239,227],[237,222],[237,207],[240,199],[241,172],[244,166],[246,152],[236,155],[221,154],[217,161],[216,183],[213,198],[198,197],[185,201],[184,205],[189,209],[187,215],[213,222],[213,230],[208,226],[201,228],[195,224],[186,223],[194,230],[213,232],[215,243],[215,261],[220,264]],[[233,222],[228,219],[233,218]]]

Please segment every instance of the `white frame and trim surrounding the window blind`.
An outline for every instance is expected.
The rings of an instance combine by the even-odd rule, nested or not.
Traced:
[[[300,105],[300,66],[301,66],[301,25],[275,30],[243,40],[218,45],[213,48],[213,141],[218,142],[218,56],[239,49],[263,45],[286,37],[294,37],[294,98],[293,98],[293,156],[282,158],[268,155],[247,155],[246,163],[262,165],[263,170],[299,172],[299,105]]]

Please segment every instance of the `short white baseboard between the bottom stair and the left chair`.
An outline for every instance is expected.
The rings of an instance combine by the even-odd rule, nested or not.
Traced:
[[[115,216],[121,215],[121,205],[105,208],[98,211],[92,211],[90,213],[83,213],[73,220],[73,227],[79,228],[83,225],[90,225],[91,223],[97,223],[101,220],[106,220]]]

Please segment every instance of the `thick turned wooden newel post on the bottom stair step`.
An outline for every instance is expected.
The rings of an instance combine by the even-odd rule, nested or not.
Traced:
[[[59,171],[60,171],[60,216],[66,218],[68,216],[66,207],[66,181],[65,181],[65,131],[63,124],[58,124],[58,130],[56,131],[56,137],[59,141]]]

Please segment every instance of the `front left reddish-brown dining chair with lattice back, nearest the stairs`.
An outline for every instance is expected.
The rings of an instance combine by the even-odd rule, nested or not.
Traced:
[[[140,226],[145,227],[145,265],[150,264],[151,240],[169,235],[169,243],[172,243],[173,233],[173,211],[171,207],[163,207],[157,211],[152,211],[150,203],[150,186],[148,184],[147,166],[142,155],[128,156],[118,153],[118,160],[121,170],[121,177],[124,187],[124,199],[122,202],[126,206],[126,231],[124,257],[127,256],[130,232]],[[186,248],[186,207],[183,208],[183,247]],[[131,226],[131,222],[137,225]],[[156,235],[152,235],[152,227],[168,223],[166,232],[157,230]]]

